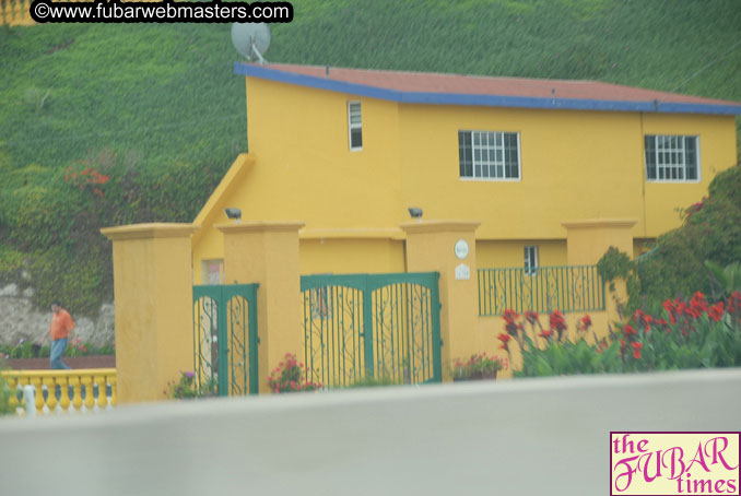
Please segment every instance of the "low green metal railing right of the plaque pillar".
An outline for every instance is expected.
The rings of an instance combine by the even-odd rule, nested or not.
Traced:
[[[604,284],[596,265],[479,269],[479,315],[604,310]]]

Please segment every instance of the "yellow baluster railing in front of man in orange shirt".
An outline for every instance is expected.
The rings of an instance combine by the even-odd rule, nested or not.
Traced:
[[[0,374],[13,391],[21,390],[27,385],[34,387],[38,415],[104,411],[116,405],[115,368],[4,370]],[[94,395],[94,386],[97,386],[97,399]],[[72,389],[71,399],[70,387]],[[107,397],[108,388],[110,389],[110,398]],[[57,389],[59,389],[59,400],[57,400]],[[21,413],[24,404],[19,402],[15,395],[11,397],[10,402],[11,406],[14,406]]]

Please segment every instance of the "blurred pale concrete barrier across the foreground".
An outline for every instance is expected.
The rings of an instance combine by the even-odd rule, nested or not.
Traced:
[[[741,369],[0,421],[0,495],[603,495],[610,430],[741,430]]]

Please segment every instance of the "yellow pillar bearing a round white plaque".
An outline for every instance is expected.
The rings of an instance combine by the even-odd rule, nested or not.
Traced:
[[[439,272],[443,377],[457,358],[484,351],[479,334],[479,288],[475,229],[469,221],[422,221],[401,224],[407,234],[407,271]],[[460,243],[460,241],[463,243]],[[468,246],[464,253],[463,246]]]

